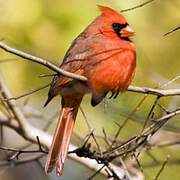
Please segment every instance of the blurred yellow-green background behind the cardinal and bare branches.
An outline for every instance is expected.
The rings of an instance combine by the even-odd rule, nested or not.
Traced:
[[[97,4],[120,11],[142,2],[142,0],[0,0],[0,39],[4,39],[12,47],[58,65],[72,40],[99,15]],[[180,75],[180,31],[163,37],[164,33],[180,23],[180,1],[155,0],[145,7],[124,13],[124,16],[136,31],[136,36],[132,38],[137,48],[137,70],[133,85],[157,87]],[[50,70],[3,51],[0,51],[0,55],[0,61],[12,59],[10,62],[1,63],[0,70],[14,96],[51,81],[51,78],[38,77],[41,74],[52,73]],[[179,83],[180,81],[176,81],[167,88],[180,87]],[[45,89],[31,95],[29,105],[44,113],[54,114],[60,108],[59,97],[43,109],[47,92],[48,89]],[[107,134],[113,137],[117,130],[114,122],[121,124],[142,98],[143,95],[127,92],[116,100],[106,100],[105,103],[92,108],[88,95],[84,98],[82,108],[95,133],[102,135],[104,127]],[[23,101],[24,99],[21,99],[18,103],[22,104]],[[120,138],[125,139],[140,132],[142,121],[146,118],[153,101],[154,97],[148,97],[144,101],[121,132]],[[161,104],[167,108],[175,108],[180,105],[180,100],[178,97],[162,98]],[[157,108],[155,115],[157,117],[162,115],[162,111]],[[178,117],[173,118],[170,124],[180,128],[178,120]],[[50,132],[53,132],[54,125],[50,128]],[[81,132],[80,135],[84,137],[87,130],[84,118],[79,113],[74,131],[78,134]],[[75,138],[73,140],[75,141]],[[171,157],[180,157],[177,148],[153,150],[152,153],[161,161],[167,154]],[[140,159],[142,167],[150,161],[146,156]],[[159,168],[160,166],[144,168],[146,179],[152,179]],[[86,170],[79,168],[79,171],[86,174]],[[168,180],[172,177],[173,180],[178,180],[179,171],[179,164],[169,165],[159,179]],[[54,177],[47,178],[54,179]]]

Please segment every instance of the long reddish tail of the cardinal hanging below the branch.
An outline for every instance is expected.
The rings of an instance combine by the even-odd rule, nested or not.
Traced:
[[[60,176],[63,172],[64,161],[67,157],[68,147],[81,100],[82,97],[62,97],[61,114],[45,165],[46,173],[51,172],[54,166],[56,166],[57,175]]]

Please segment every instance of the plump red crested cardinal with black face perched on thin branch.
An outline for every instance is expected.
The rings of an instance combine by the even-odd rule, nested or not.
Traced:
[[[62,108],[45,165],[46,174],[56,166],[57,175],[62,175],[83,96],[91,93],[91,105],[96,106],[108,92],[115,98],[119,91],[125,91],[134,76],[136,51],[129,39],[134,31],[115,10],[105,6],[99,9],[101,15],[72,42],[60,65],[87,77],[87,83],[56,75],[48,93],[45,106],[60,94]]]

